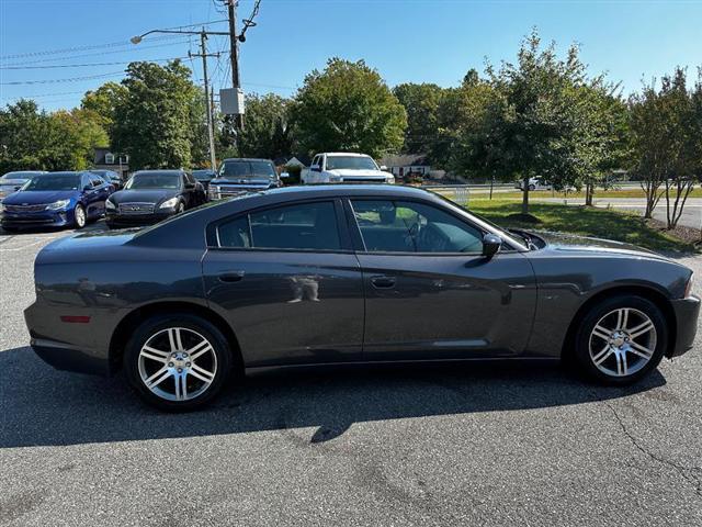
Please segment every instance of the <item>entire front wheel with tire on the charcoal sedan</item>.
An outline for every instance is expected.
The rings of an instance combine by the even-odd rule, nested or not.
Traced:
[[[668,327],[660,309],[635,295],[613,296],[582,318],[575,355],[580,368],[605,384],[630,384],[663,359]]]

